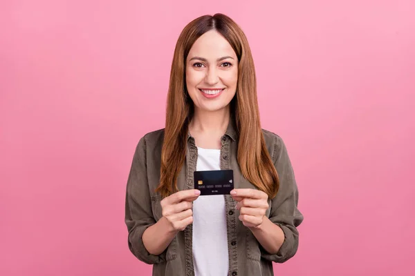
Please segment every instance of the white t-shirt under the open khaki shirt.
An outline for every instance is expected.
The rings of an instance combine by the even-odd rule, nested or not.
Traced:
[[[198,147],[196,170],[220,170],[221,150]],[[228,233],[223,195],[203,195],[193,202],[193,262],[196,276],[228,275]]]

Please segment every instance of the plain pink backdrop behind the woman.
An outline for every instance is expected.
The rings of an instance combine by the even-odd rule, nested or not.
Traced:
[[[129,252],[138,139],[163,128],[178,34],[246,32],[263,127],[300,190],[277,275],[415,275],[414,1],[1,1],[0,275],[150,275]]]

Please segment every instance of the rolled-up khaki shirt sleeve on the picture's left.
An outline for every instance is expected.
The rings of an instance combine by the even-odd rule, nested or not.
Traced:
[[[146,159],[145,137],[142,137],[134,152],[127,180],[125,224],[127,224],[128,246],[131,253],[146,264],[158,264],[165,261],[165,252],[161,255],[152,255],[142,243],[144,231],[156,223],[151,210]]]

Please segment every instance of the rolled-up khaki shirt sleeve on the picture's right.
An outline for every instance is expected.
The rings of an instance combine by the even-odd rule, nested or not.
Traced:
[[[298,188],[284,141],[276,135],[274,145],[273,159],[279,177],[279,190],[277,196],[271,200],[269,219],[284,231],[284,243],[276,254],[268,254],[261,248],[261,257],[271,262],[283,263],[297,253],[297,226],[304,217],[297,209]]]

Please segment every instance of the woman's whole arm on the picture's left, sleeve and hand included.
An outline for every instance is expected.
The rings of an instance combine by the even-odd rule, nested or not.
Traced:
[[[158,264],[166,259],[165,250],[176,234],[193,221],[192,201],[199,190],[183,190],[163,199],[163,217],[156,223],[151,209],[147,180],[145,137],[140,139],[127,181],[125,223],[131,253],[142,262]]]

